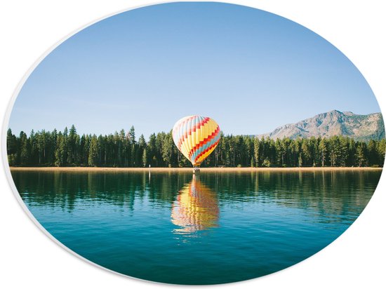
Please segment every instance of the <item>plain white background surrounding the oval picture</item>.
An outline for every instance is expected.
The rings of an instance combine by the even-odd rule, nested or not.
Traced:
[[[46,55],[58,41],[63,41],[69,34],[107,15],[154,3],[157,2],[1,1],[0,101],[3,118],[6,118],[7,107],[20,81],[36,65],[36,60]],[[386,18],[382,1],[255,0],[232,3],[254,6],[284,16],[333,43],[364,74],[377,95],[382,112],[385,112]],[[4,158],[4,128],[2,134]],[[119,276],[68,253],[29,219],[15,198],[4,170],[0,172],[0,186],[1,288],[168,286]],[[276,274],[219,286],[386,288],[385,188],[386,177],[383,174],[373,198],[358,220],[337,241],[317,255]]]

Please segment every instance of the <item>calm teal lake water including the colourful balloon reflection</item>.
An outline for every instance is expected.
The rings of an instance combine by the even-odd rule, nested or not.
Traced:
[[[364,210],[381,170],[11,173],[36,220],[91,262],[149,281],[216,284],[326,247]]]

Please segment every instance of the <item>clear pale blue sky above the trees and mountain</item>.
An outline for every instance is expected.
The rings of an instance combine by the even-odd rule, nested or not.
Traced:
[[[338,49],[295,22],[220,3],[138,8],[67,39],[32,72],[15,102],[13,133],[168,131],[211,116],[225,134],[267,133],[331,109],[380,112]]]

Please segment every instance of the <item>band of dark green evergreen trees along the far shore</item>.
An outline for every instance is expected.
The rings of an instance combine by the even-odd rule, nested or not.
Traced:
[[[383,166],[386,140],[355,141],[349,137],[272,140],[222,135],[202,167]],[[10,166],[190,167],[173,143],[171,132],[145,140],[127,133],[79,135],[72,126],[63,132],[41,130],[29,136],[7,132]]]

